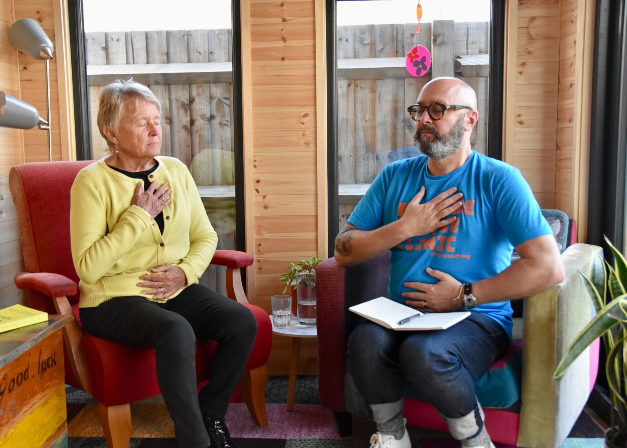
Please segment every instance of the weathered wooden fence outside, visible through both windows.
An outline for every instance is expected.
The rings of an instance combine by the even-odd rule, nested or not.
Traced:
[[[85,38],[88,66],[231,61],[230,29],[86,33]],[[404,60],[409,50],[418,43],[428,48],[433,57],[431,70],[420,78],[413,78],[407,73],[398,75],[399,70],[392,78],[389,75],[379,78],[374,75],[375,78],[372,78],[373,75],[366,76],[364,69],[359,68],[360,61],[356,61],[352,71],[340,71],[347,75],[337,80],[339,184],[370,184],[389,162],[419,154],[413,146],[414,121],[409,118],[406,108],[416,102],[420,89],[434,74],[455,75],[475,89],[480,118],[472,135],[472,144],[478,152],[487,152],[487,71],[477,70],[476,76],[456,73],[455,57],[487,55],[489,23],[424,23],[418,38],[416,24],[339,26],[337,58],[345,62],[364,58]],[[221,73],[222,80],[224,75],[228,77],[228,71]],[[112,76],[111,80],[115,78]],[[162,105],[162,154],[181,159],[199,186],[233,185],[232,83],[173,85],[166,82],[165,75],[154,73],[150,79],[159,80],[150,83],[149,87]],[[108,154],[96,124],[100,91],[102,85],[89,88],[94,159]],[[233,249],[233,198],[204,197],[203,201],[220,237],[218,247]],[[340,204],[339,211],[341,228],[357,201],[340,202],[344,202]],[[221,271],[211,268],[205,274],[203,283],[214,286],[216,279],[223,278],[216,276],[222,275]],[[215,286],[219,291],[221,283],[218,281]]]

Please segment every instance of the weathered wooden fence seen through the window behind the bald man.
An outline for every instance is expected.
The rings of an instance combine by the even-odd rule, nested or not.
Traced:
[[[420,154],[418,148],[413,145],[415,122],[409,117],[407,107],[416,102],[421,88],[431,80],[438,65],[450,63],[451,68],[445,68],[445,73],[440,72],[438,75],[453,76],[455,69],[451,55],[488,55],[489,25],[488,22],[424,23],[421,24],[418,38],[416,24],[338,27],[338,60],[395,57],[404,59],[417,44],[428,48],[433,57],[431,70],[419,78],[338,79],[340,185],[370,184],[385,165],[394,160]],[[487,154],[488,76],[486,70],[478,73],[479,76],[463,76],[460,73],[455,73],[455,76],[466,81],[477,92],[479,122],[473,131],[471,142],[475,150]],[[341,202],[340,229],[344,227],[356,206],[356,202],[352,204]]]

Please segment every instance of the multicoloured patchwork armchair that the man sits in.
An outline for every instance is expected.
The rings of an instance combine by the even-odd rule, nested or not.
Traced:
[[[566,249],[562,253],[566,279],[525,299],[523,317],[514,319],[514,338],[522,340],[515,341],[510,353],[478,380],[483,381],[483,389],[488,393],[497,391],[499,395],[505,383],[500,381],[503,376],[499,377],[494,370],[516,358],[522,362],[519,376],[510,383],[517,387],[520,398],[513,405],[504,405],[505,409],[482,405],[492,440],[529,448],[557,448],[562,444],[586,404],[599,361],[596,341],[577,359],[577,365],[571,367],[570,377],[553,379],[566,348],[594,316],[593,304],[579,272],[590,274],[603,267],[598,256],[600,247],[571,245],[576,241],[576,227],[573,229],[572,220],[569,226],[566,214],[543,213],[561,249]],[[389,252],[346,268],[330,258],[316,269],[320,404],[334,411],[342,436],[350,434],[352,423],[352,415],[347,412],[353,387],[346,375],[346,340],[361,320],[347,309],[362,301],[387,296],[389,273]],[[522,305],[522,301],[514,304]],[[482,402],[479,388],[477,396]],[[440,414],[426,402],[406,399],[404,416],[412,426],[448,430]]]

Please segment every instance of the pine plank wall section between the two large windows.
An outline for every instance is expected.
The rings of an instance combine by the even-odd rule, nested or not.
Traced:
[[[314,0],[243,0],[242,65],[248,294],[270,312],[290,262],[318,253]],[[320,18],[322,19],[322,18]],[[324,105],[322,105],[324,107]],[[291,340],[273,338],[268,372],[288,372]],[[303,340],[299,373],[317,373]]]

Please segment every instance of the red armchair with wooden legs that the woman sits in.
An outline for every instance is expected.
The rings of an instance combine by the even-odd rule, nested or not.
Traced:
[[[78,315],[78,276],[70,250],[70,187],[80,169],[91,162],[43,162],[17,165],[9,173],[9,187],[19,219],[25,273],[16,286],[30,290],[30,305],[38,310],[73,315],[64,328],[66,383],[81,388],[99,402],[100,421],[107,445],[127,448],[130,442],[131,402],[159,395],[154,350],[130,348],[83,333]],[[272,328],[268,313],[248,304],[240,268],[253,257],[218,250],[211,264],[226,266],[229,298],[243,303],[255,315],[259,332],[241,383],[251,417],[268,424],[265,390]],[[199,341],[196,373],[208,379],[216,349],[213,341]]]

